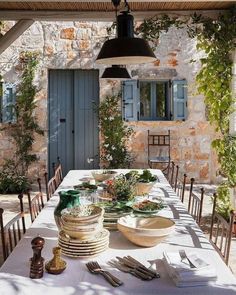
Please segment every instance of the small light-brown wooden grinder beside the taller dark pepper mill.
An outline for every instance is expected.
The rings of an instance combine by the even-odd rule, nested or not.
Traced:
[[[52,253],[54,256],[46,263],[45,268],[48,273],[58,275],[66,269],[66,262],[61,259],[60,247],[54,247]]]

